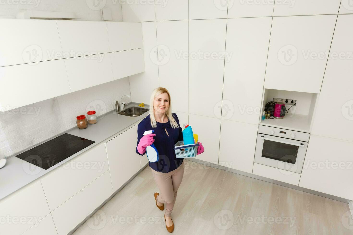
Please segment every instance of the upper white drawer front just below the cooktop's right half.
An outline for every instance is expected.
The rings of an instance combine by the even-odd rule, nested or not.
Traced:
[[[103,143],[50,172],[41,180],[50,211],[58,208],[108,168],[107,152]]]

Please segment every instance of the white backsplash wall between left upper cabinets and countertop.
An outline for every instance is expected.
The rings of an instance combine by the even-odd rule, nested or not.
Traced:
[[[89,110],[103,115],[115,109],[115,101],[124,94],[131,95],[128,78],[0,112],[0,154],[11,156],[65,132],[76,126],[76,116]]]

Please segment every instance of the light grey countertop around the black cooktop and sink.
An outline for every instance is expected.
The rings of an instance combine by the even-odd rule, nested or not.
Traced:
[[[125,105],[124,109],[137,106],[138,103],[129,103]],[[149,109],[148,105],[145,105],[146,109]],[[128,117],[124,115],[118,115],[115,110],[105,113],[97,117],[98,122],[94,125],[88,125],[86,129],[78,129],[74,127],[64,133],[68,133],[71,135],[79,136],[82,138],[86,138],[88,140],[95,141],[95,143],[91,144],[90,146],[82,149],[81,151],[73,154],[72,156],[68,157],[67,159],[61,161],[60,163],[56,164],[55,166],[50,167],[47,170],[44,170],[40,167],[32,165],[29,162],[26,162],[22,159],[19,159],[15,155],[18,155],[26,150],[34,148],[44,142],[47,142],[55,137],[58,137],[64,133],[59,135],[53,136],[52,138],[38,143],[34,146],[31,146],[28,149],[21,151],[20,153],[16,153],[13,156],[7,157],[6,165],[0,169],[0,200],[5,198],[6,196],[10,195],[11,193],[19,190],[20,188],[28,185],[29,183],[35,181],[36,179],[40,178],[41,176],[45,175],[46,173],[52,171],[53,169],[61,166],[63,163],[70,161],[74,157],[80,155],[84,151],[96,146],[97,144],[102,143],[102,141],[106,140],[107,138],[119,134],[128,126],[140,122],[143,118],[148,116],[149,111],[143,113],[138,117]],[[136,140],[137,141],[137,140]]]

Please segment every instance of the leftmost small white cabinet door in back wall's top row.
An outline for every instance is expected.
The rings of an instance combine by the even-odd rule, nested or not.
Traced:
[[[155,0],[122,1],[122,20],[124,22],[155,21]]]

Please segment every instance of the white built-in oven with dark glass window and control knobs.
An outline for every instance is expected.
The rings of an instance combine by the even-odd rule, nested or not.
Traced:
[[[254,162],[301,173],[309,133],[259,125]]]

